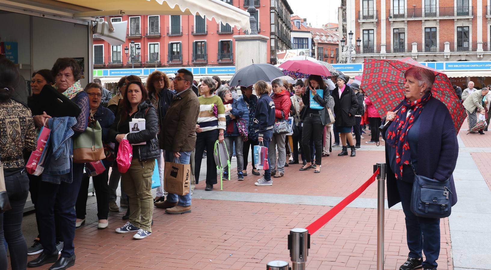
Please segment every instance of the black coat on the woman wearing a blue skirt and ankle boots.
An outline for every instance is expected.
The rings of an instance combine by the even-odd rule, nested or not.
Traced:
[[[356,124],[355,115],[358,109],[358,100],[355,91],[348,85],[339,98],[338,86],[332,90],[334,98],[334,119],[336,126],[354,126]]]

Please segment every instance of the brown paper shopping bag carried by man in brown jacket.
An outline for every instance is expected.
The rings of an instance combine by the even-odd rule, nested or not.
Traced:
[[[164,190],[176,195],[186,195],[190,189],[191,165],[165,162]]]

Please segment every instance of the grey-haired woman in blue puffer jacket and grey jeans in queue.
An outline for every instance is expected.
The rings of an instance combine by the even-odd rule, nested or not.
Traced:
[[[242,152],[242,148],[244,147],[244,139],[239,133],[239,127],[237,122],[242,119],[245,114],[248,114],[249,111],[246,106],[242,103],[239,103],[237,99],[232,98],[232,91],[228,86],[222,86],[217,91],[218,97],[223,101],[223,105],[225,106],[225,120],[226,120],[226,128],[224,133],[225,136],[225,144],[227,145],[228,150],[228,160],[232,160],[232,152],[235,144],[235,156],[237,157],[237,178],[238,180],[244,180],[244,155]],[[223,173],[223,177],[227,178],[228,169],[226,168]]]

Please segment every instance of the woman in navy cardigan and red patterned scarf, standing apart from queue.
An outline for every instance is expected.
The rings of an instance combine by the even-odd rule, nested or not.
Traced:
[[[385,160],[389,165],[387,201],[389,207],[401,202],[406,216],[409,257],[399,270],[436,270],[440,253],[440,220],[417,217],[411,212],[414,172],[440,181],[450,178],[454,205],[457,193],[452,173],[459,145],[447,107],[431,91],[435,72],[411,67],[404,76],[405,98],[394,111],[387,112],[386,120],[392,123],[382,134],[386,139]]]

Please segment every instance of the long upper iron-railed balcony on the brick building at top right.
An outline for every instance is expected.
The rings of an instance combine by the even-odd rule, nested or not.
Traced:
[[[419,20],[421,18],[435,18],[441,20],[442,18],[452,19],[461,17],[473,17],[472,6],[427,6],[425,8],[389,10],[389,20]]]

